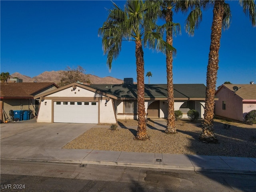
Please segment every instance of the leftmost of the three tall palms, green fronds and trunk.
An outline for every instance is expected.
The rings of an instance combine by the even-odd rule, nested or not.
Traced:
[[[118,57],[123,40],[135,42],[136,72],[137,72],[137,103],[138,103],[138,130],[136,139],[148,139],[146,132],[146,112],[144,104],[144,46],[151,48],[158,46],[158,42],[165,47],[174,50],[167,45],[160,34],[155,32],[156,26],[152,18],[145,17],[148,7],[142,0],[128,0],[124,10],[113,3],[114,8],[110,10],[106,22],[99,29],[102,36],[104,54],[107,56],[107,64],[111,69],[113,58]]]

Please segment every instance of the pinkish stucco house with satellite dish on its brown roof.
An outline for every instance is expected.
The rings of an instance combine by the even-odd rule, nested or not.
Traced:
[[[256,84],[223,84],[215,96],[218,98],[215,102],[218,116],[244,121],[247,112],[256,110]]]

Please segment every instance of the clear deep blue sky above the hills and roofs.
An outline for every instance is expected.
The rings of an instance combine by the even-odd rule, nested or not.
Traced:
[[[125,1],[114,1],[121,8]],[[222,31],[217,86],[256,82],[256,28],[238,1],[230,4],[230,28]],[[19,72],[34,77],[44,71],[80,65],[86,74],[100,77],[134,78],[135,43],[124,42],[109,71],[98,29],[112,8],[111,1],[0,1],[1,72]],[[193,37],[184,30],[186,16],[174,14],[182,35],[174,37],[177,55],[173,62],[174,84],[206,84],[212,9],[203,12],[200,28]],[[144,49],[145,74],[151,84],[166,83],[166,57]],[[148,78],[145,77],[145,83]]]

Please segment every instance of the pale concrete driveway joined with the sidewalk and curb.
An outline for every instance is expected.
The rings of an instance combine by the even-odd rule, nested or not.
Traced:
[[[30,124],[1,124],[1,159],[256,174],[256,158],[63,149],[66,143],[97,125],[29,121]]]

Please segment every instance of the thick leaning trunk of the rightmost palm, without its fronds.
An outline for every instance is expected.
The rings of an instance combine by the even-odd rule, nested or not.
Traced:
[[[204,122],[202,133],[199,140],[204,142],[216,143],[217,138],[214,134],[214,95],[217,80],[220,38],[222,32],[222,18],[224,14],[224,1],[215,1],[213,10],[211,44],[209,60],[206,74],[206,98],[204,107]]]

